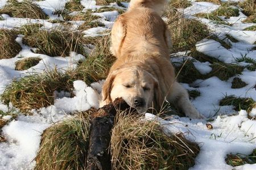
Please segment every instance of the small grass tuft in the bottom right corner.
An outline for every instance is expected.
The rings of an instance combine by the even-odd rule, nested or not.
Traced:
[[[256,150],[253,150],[253,152],[250,155],[228,154],[226,155],[225,161],[228,165],[231,165],[232,167],[236,167],[244,164],[255,164]]]

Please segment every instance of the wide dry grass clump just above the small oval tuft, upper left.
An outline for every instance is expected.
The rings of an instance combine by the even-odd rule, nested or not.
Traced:
[[[68,29],[39,30],[31,35],[24,36],[23,43],[36,48],[36,53],[52,57],[69,56],[70,52],[86,56],[84,50],[85,40],[82,37],[82,33],[72,32]]]

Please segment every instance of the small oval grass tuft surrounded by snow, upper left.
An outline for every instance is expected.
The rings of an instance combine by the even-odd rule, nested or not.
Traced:
[[[31,57],[31,58],[24,58],[17,62],[15,62],[15,70],[27,70],[30,67],[33,67],[39,63],[41,58],[39,57]]]

